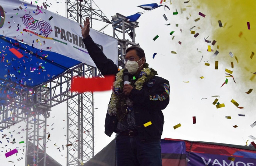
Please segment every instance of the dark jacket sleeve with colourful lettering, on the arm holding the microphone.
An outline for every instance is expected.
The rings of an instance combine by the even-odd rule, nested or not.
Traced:
[[[139,104],[147,108],[163,110],[169,104],[169,93],[169,81],[162,79],[150,90],[145,88],[137,90],[133,88],[130,92],[129,98],[134,102],[134,104]]]

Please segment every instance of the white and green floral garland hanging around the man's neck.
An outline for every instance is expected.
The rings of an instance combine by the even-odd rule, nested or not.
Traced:
[[[144,68],[139,72],[138,80],[132,85],[137,90],[141,90],[145,82],[148,82],[151,78],[157,75],[157,71],[148,67],[147,63],[144,63]],[[110,104],[107,106],[107,113],[110,116],[117,116],[118,120],[123,120],[127,110],[133,106],[131,101],[126,95],[122,93],[123,89],[123,70],[121,69],[116,76],[114,87],[111,95]]]

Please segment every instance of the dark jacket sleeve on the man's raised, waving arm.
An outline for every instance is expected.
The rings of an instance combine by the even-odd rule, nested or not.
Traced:
[[[102,50],[94,43],[91,36],[83,38],[83,43],[86,49],[93,59],[96,67],[101,71],[102,75],[116,75],[118,72],[118,67],[111,59],[108,59]]]

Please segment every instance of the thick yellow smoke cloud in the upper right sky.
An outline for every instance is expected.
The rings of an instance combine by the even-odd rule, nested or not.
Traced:
[[[252,52],[256,54],[255,0],[197,0],[193,4],[200,5],[201,10],[207,13],[204,19],[211,20],[211,38],[219,45],[218,58],[230,64],[229,52],[232,52],[234,68],[239,68],[243,81],[255,82],[255,75],[251,72],[256,72],[256,55],[250,58]],[[218,20],[223,27],[218,26]]]

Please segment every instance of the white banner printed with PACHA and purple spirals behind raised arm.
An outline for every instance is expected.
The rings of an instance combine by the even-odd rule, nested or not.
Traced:
[[[82,42],[79,23],[25,1],[0,1],[1,35],[96,67]],[[107,58],[118,64],[117,40],[94,29],[90,36]]]

